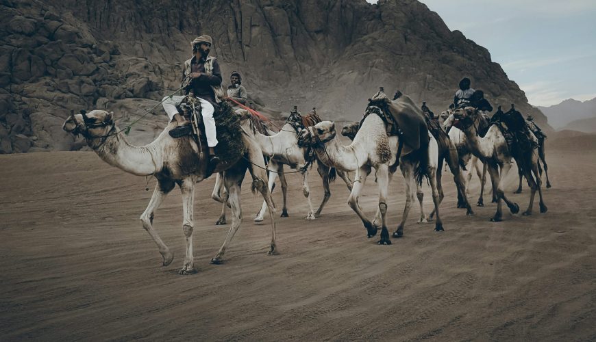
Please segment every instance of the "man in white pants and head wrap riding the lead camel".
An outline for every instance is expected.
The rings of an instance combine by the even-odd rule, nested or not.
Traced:
[[[213,114],[218,103],[221,102],[223,89],[221,88],[221,70],[215,57],[209,56],[212,40],[210,36],[195,38],[190,46],[193,48],[193,57],[184,62],[182,73],[182,89],[184,94],[194,94],[201,102],[201,114],[205,124],[205,135],[209,146],[209,167],[211,170],[219,163],[215,156],[214,147],[217,145],[215,120]],[[182,137],[193,130],[190,122],[178,113],[176,106],[182,102],[184,96],[164,98],[163,106],[170,120],[174,119],[178,127],[169,131],[172,137]]]

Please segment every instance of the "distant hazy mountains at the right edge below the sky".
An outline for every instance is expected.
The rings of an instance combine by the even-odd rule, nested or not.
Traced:
[[[556,129],[572,129],[563,127],[576,120],[596,118],[596,98],[583,102],[569,98],[558,105],[537,108],[547,116],[549,124]],[[577,126],[577,122],[571,126]]]

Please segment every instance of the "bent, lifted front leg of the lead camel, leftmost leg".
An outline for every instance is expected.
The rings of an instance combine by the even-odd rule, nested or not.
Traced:
[[[174,186],[175,183],[171,179],[158,179],[158,183],[156,184],[156,188],[153,190],[151,200],[149,200],[149,205],[147,205],[147,209],[145,209],[139,218],[140,222],[142,222],[142,228],[145,228],[145,231],[151,235],[153,241],[155,241],[155,243],[158,245],[160,254],[162,254],[164,266],[172,263],[174,260],[174,253],[170,251],[170,248],[168,248],[166,244],[164,244],[164,241],[158,235],[155,228],[153,228],[153,218],[155,218],[155,213],[164,201],[164,198],[166,198],[166,195],[172,191]]]

